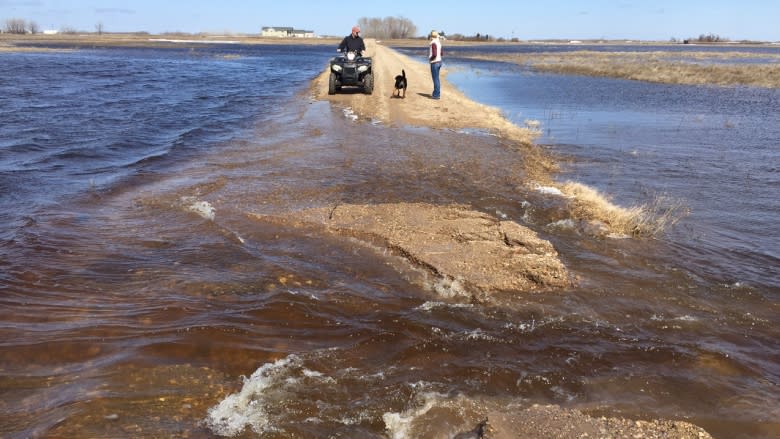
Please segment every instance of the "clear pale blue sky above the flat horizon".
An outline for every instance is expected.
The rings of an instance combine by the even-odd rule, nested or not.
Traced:
[[[0,0],[0,25],[21,18],[40,29],[90,32],[102,23],[107,32],[257,34],[290,26],[341,36],[361,17],[389,16],[411,20],[420,35],[780,41],[778,0]]]

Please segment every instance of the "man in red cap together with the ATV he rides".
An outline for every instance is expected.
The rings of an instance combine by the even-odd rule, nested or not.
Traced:
[[[374,91],[371,58],[363,56],[366,45],[359,34],[360,28],[354,26],[352,33],[344,37],[339,44],[338,51],[342,55],[330,60],[328,94],[335,94],[342,86],[362,87],[366,94]]]

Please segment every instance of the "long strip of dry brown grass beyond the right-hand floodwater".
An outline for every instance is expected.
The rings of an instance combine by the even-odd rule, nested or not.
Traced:
[[[666,84],[747,85],[780,88],[780,55],[746,52],[597,52],[475,56],[528,65],[539,71],[604,76]],[[760,57],[763,63],[723,63]]]

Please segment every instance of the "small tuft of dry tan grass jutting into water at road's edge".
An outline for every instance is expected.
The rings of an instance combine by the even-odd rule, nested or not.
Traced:
[[[577,182],[566,182],[561,192],[570,197],[569,209],[573,219],[596,221],[610,233],[635,237],[650,237],[673,226],[687,213],[680,202],[656,197],[650,204],[621,207],[596,189]]]

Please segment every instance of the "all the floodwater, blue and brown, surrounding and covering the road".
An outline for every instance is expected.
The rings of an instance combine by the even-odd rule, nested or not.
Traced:
[[[434,437],[535,402],[780,434],[776,90],[452,62],[541,122],[561,179],[691,211],[597,239],[551,226],[492,137],[311,100],[331,51],[0,55],[0,435]],[[397,201],[528,225],[577,282],[444,297],[382,249],[247,216]]]

